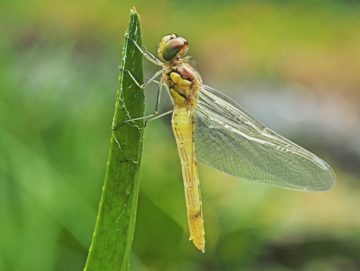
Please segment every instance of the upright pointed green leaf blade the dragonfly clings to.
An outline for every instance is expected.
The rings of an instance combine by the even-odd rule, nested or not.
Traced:
[[[130,12],[126,35],[142,46],[139,14]],[[125,39],[121,67],[144,83],[143,55],[131,40]],[[123,120],[144,115],[144,90],[127,72],[120,72],[113,127]],[[144,119],[129,121],[113,130],[109,161],[98,218],[86,271],[129,270],[138,203]]]

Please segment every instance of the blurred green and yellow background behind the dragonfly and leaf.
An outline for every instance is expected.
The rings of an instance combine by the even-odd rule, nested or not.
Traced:
[[[291,191],[199,165],[203,254],[188,241],[170,117],[151,121],[130,270],[360,270],[360,4],[350,0],[3,0],[0,270],[84,268],[133,5],[147,49],[176,31],[205,84],[327,161],[337,184]],[[145,75],[157,71],[145,63]],[[156,91],[145,90],[147,113]]]

